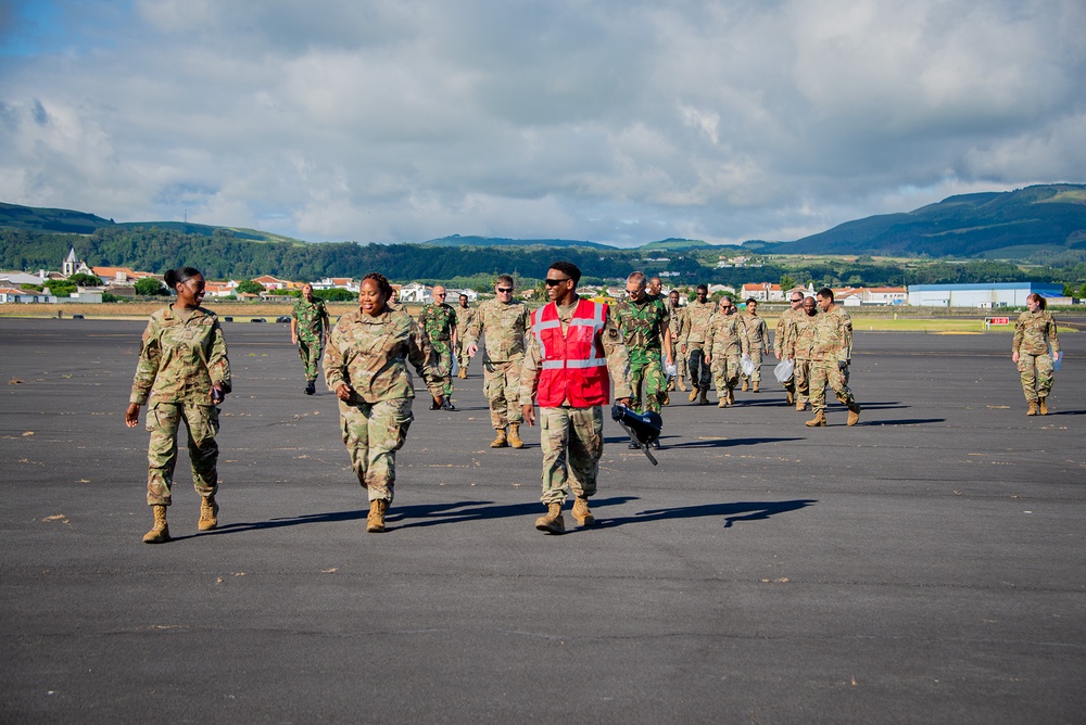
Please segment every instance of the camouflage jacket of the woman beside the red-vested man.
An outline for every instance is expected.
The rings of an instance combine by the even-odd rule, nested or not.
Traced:
[[[346,383],[354,389],[354,399],[363,403],[415,397],[411,362],[430,394],[438,396],[442,377],[429,349],[407,313],[386,309],[374,317],[356,309],[332,328],[325,349],[325,382],[330,391]]]

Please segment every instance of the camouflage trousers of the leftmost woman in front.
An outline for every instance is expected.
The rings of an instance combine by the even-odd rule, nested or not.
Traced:
[[[147,411],[151,444],[147,451],[147,504],[169,506],[169,486],[177,463],[177,429],[181,421],[189,432],[192,485],[203,497],[218,491],[218,408],[194,403],[153,403]]]

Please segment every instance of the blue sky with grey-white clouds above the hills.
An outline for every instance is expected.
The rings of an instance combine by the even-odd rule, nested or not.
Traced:
[[[1086,181],[1083,0],[0,0],[0,201],[791,241]]]

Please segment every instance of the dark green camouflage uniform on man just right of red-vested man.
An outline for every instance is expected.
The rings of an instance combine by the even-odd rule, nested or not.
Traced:
[[[660,355],[662,335],[670,334],[670,315],[659,297],[644,295],[641,302],[623,300],[613,308],[616,325],[622,331],[626,352],[630,357],[630,386],[633,409],[637,412],[664,409],[668,381]],[[641,399],[645,403],[642,406]]]

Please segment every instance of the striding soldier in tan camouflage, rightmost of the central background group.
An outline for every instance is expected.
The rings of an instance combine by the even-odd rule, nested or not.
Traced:
[[[848,425],[860,420],[860,406],[848,390],[848,364],[853,357],[853,320],[848,313],[833,303],[833,290],[818,291],[821,314],[815,321],[815,346],[811,352],[811,428],[825,425],[825,386],[833,389],[837,399],[848,407]]]

